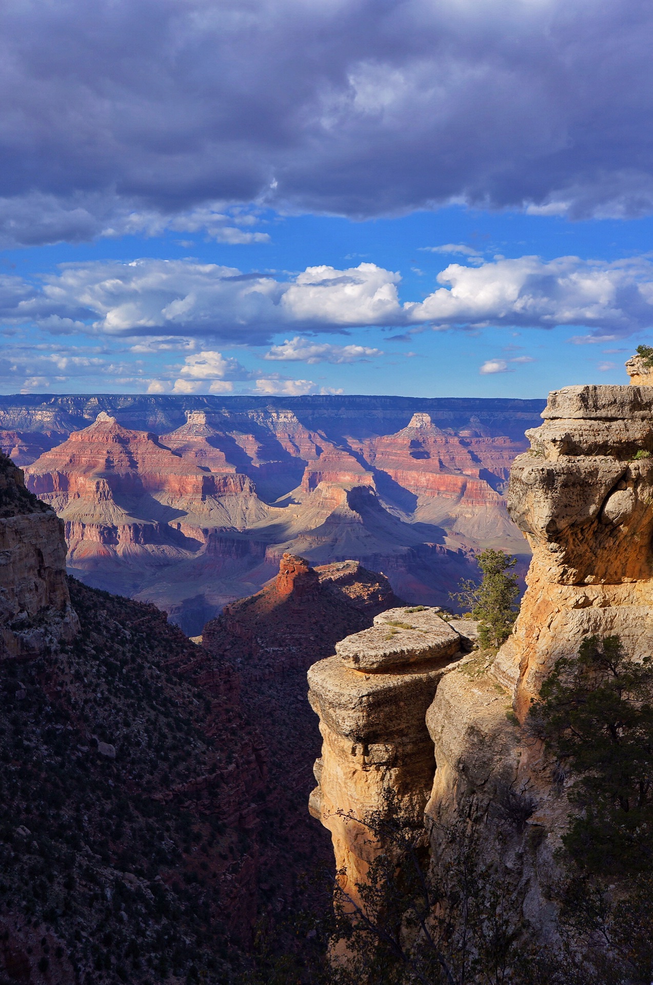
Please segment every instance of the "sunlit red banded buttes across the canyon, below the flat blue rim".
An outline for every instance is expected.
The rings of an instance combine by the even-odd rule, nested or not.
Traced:
[[[411,601],[448,604],[470,549],[521,548],[500,491],[524,446],[474,419],[456,431],[424,413],[349,445],[269,408],[188,412],[161,437],[100,413],[27,481],[65,520],[73,571],[155,601],[196,634],[196,616],[180,614],[205,619],[248,594],[285,552],[357,558]]]

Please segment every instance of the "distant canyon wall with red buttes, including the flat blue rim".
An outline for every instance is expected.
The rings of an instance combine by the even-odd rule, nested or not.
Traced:
[[[543,402],[403,397],[0,397],[0,444],[65,524],[68,570],[188,635],[285,553],[356,559],[449,605],[488,546]]]

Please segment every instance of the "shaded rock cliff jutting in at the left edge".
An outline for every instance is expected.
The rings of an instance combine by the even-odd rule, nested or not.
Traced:
[[[0,454],[0,660],[35,656],[72,639],[77,628],[63,524]]]

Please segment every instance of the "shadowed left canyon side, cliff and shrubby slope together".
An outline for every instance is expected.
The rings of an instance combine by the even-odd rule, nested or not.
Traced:
[[[152,606],[69,591],[61,521],[4,457],[0,534],[0,976],[229,981],[269,857],[238,675]]]

